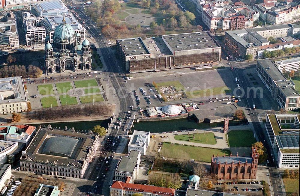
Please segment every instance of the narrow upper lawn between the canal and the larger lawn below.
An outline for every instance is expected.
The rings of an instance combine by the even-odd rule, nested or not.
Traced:
[[[193,135],[195,136],[195,139],[193,139]],[[214,133],[212,133],[212,132],[196,133],[196,134],[190,134],[190,135],[180,134],[180,135],[175,135],[174,138],[179,141],[189,141],[189,139],[190,139],[190,142],[195,142],[195,143],[217,144],[217,142],[214,138]]]

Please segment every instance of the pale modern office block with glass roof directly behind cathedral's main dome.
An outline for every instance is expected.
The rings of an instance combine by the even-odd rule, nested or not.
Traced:
[[[58,27],[58,25],[63,23],[63,19],[65,19],[66,24],[71,25],[71,27],[74,29],[75,34],[80,34],[81,39],[80,42],[85,40],[85,31],[86,29],[77,21],[77,19],[73,16],[73,14],[68,14],[65,16],[46,16],[41,21],[43,26],[46,28],[46,33],[49,35],[49,42],[53,43],[53,35],[55,28]]]

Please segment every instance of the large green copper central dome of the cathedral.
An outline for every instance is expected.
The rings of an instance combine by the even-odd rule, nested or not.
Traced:
[[[62,24],[55,28],[53,39],[55,40],[71,40],[75,37],[75,31],[71,25],[66,24],[66,20],[62,20]]]

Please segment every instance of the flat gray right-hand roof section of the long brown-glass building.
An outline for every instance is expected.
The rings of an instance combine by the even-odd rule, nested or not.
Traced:
[[[173,51],[219,47],[208,31],[163,35],[163,37]]]

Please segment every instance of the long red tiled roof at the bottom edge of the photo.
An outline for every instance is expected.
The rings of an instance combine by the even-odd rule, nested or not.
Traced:
[[[143,184],[131,184],[131,183],[123,183],[120,181],[113,181],[111,188],[113,189],[122,189],[128,191],[136,191],[136,192],[148,192],[154,193],[157,195],[174,195],[175,189],[171,188],[164,188],[158,186],[150,186],[150,185],[143,185]]]

